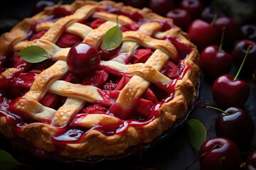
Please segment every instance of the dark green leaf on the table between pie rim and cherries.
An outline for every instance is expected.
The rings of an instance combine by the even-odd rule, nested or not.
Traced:
[[[186,130],[191,145],[199,150],[203,142],[206,141],[206,127],[199,120],[190,119],[186,125]]]

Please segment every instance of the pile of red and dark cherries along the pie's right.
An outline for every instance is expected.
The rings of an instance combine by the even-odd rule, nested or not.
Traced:
[[[252,118],[242,108],[250,96],[249,86],[242,79],[249,77],[256,82],[256,26],[239,25],[228,13],[203,0],[124,0],[124,4],[148,7],[173,18],[201,52],[199,67],[203,78],[213,81],[213,100],[226,109],[215,108],[222,112],[215,121],[217,137],[201,146],[201,169],[256,169],[256,151],[247,154],[247,159],[241,154],[255,135]],[[229,74],[232,67],[237,69],[237,75]]]

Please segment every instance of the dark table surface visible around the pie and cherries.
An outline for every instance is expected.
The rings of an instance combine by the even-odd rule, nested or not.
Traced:
[[[64,3],[70,1],[64,1]],[[35,1],[19,1],[18,4],[13,6],[11,2],[7,2],[8,8],[1,6],[0,10],[0,33],[9,31],[14,24],[21,21],[24,17],[29,17],[30,10],[35,4]],[[21,8],[22,6],[22,8]],[[235,75],[238,68],[233,66],[230,74]],[[252,81],[252,74],[244,74],[239,77],[245,80],[250,86],[250,97],[245,105],[242,107],[249,113],[256,126],[256,84]],[[201,74],[201,90],[197,101],[197,108],[193,113],[188,116],[196,118],[206,126],[207,139],[216,137],[214,125],[215,120],[220,113],[217,111],[206,109],[205,106],[216,106],[211,95],[211,87],[213,80],[207,79]],[[256,149],[256,137],[254,137],[250,148],[242,151],[244,157],[247,153]],[[55,162],[48,159],[38,159],[30,154],[18,153],[16,149],[9,145],[8,141],[0,140],[0,149],[4,149],[24,164],[30,166],[18,166],[15,169],[186,169],[197,157],[198,151],[191,147],[186,132],[186,125],[178,128],[173,135],[165,137],[164,140],[157,142],[156,145],[150,149],[125,157],[119,160],[105,160],[95,164],[87,164],[77,162],[75,164],[65,164],[63,162]],[[1,169],[1,164],[0,164]],[[193,164],[189,169],[200,169],[199,162]]]

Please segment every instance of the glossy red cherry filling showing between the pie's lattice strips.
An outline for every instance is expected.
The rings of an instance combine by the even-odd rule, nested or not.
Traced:
[[[100,13],[102,12],[104,11],[100,11]],[[107,6],[107,11],[105,12],[128,16],[132,19],[132,23],[124,24],[121,27],[121,30],[124,33],[131,30],[138,30],[143,23],[151,22],[160,23],[161,31],[174,28],[168,21],[149,21],[144,19],[139,12],[127,13],[110,6]],[[56,7],[51,16],[43,19],[43,21],[33,23],[31,30],[24,40],[31,41],[41,38],[47,33],[47,27],[43,30],[37,30],[43,23],[54,23],[58,18],[68,16],[72,13],[73,11],[63,7]],[[87,18],[80,23],[84,26],[89,26],[92,29],[99,28],[106,21],[102,18],[97,18],[96,16],[97,14],[92,14],[92,17]],[[153,37],[154,33],[151,35],[151,38]],[[82,40],[83,37],[81,35],[70,33],[68,32],[68,29],[66,29],[61,33],[56,45],[61,48],[74,47],[75,45],[78,46]],[[78,53],[78,51],[74,51],[71,54],[74,58],[71,61],[67,59],[69,66],[68,72],[65,73],[63,77],[60,77],[59,82],[64,81],[68,85],[74,84],[74,86],[82,84],[82,88],[85,88],[84,90],[89,86],[93,86],[101,99],[100,101],[85,101],[82,104],[82,107],[76,111],[75,115],[73,115],[73,120],[69,120],[67,125],[58,128],[58,132],[56,132],[53,137],[53,142],[74,142],[79,140],[84,133],[87,133],[92,129],[98,130],[105,135],[120,134],[125,132],[128,127],[143,127],[147,123],[150,123],[151,120],[154,120],[154,118],[157,118],[159,107],[174,98],[174,86],[176,81],[182,79],[190,69],[188,65],[183,63],[183,59],[188,57],[188,54],[191,52],[190,47],[187,47],[183,42],[174,37],[164,37],[162,40],[167,40],[176,47],[178,63],[177,61],[168,60],[164,63],[164,66],[159,72],[153,67],[145,66],[144,63],[149,60],[149,57],[155,52],[155,49],[143,45],[139,45],[132,54],[128,54],[120,52],[120,50],[122,50],[122,45],[114,50],[107,51],[103,48],[102,43],[100,43],[98,48],[93,52],[90,51],[91,49],[88,50],[90,51],[90,54],[93,53],[93,56],[97,55],[98,51],[101,51],[98,58],[99,61],[97,61],[100,65],[93,70],[89,65],[84,67],[84,64],[82,64],[85,63],[85,61],[83,61],[84,59],[82,59],[82,57],[77,57],[78,54],[75,53]],[[73,48],[71,48],[71,50],[72,49]],[[80,55],[83,55],[83,53],[88,55],[88,51],[82,51]],[[28,93],[33,81],[38,77],[38,74],[41,74],[41,72],[56,63],[56,60],[48,59],[32,65],[31,63],[23,61],[17,53],[18,52],[14,52],[6,57],[2,57],[0,60],[0,72],[2,73],[0,77],[0,114],[9,117],[9,121],[16,122],[16,126],[13,128],[16,132],[18,132],[18,129],[21,127],[21,117],[24,115],[21,111],[16,111],[14,108],[16,101],[18,101],[21,96]],[[92,57],[86,60],[92,60]],[[119,62],[120,60],[122,62]],[[154,84],[149,84],[148,88],[132,101],[131,106],[124,108],[124,106],[117,101],[119,100],[119,94],[126,88],[132,77],[134,75],[140,75],[139,72],[132,72],[132,69],[129,70],[129,66],[135,64],[137,64],[138,68],[141,67],[144,70],[142,72],[147,72],[145,71],[146,69],[149,69],[149,71],[154,70],[154,75],[156,77],[161,73],[161,77],[166,81],[158,79]],[[81,68],[79,68],[80,66]],[[86,69],[88,67],[91,69]],[[117,69],[117,67],[123,69]],[[85,71],[80,72],[82,68],[85,68]],[[7,69],[9,70],[9,74],[6,72]],[[79,72],[74,71],[75,69],[79,69]],[[144,74],[144,76],[144,79],[152,81],[151,77],[148,77],[146,74]],[[82,91],[83,89],[80,90]],[[48,91],[39,102],[45,107],[58,110],[58,108],[66,103],[68,96],[59,96],[58,94],[54,94],[53,91],[54,90]],[[127,96],[127,98],[129,98],[129,96]],[[105,115],[102,118],[111,120],[108,120],[109,123],[108,121],[102,123],[100,120],[99,122],[95,120],[95,125],[92,127],[87,127],[85,124],[81,123],[86,122],[93,114]],[[36,118],[36,120],[32,120],[28,116],[26,120],[22,120],[23,125],[33,121],[53,124],[48,118]]]

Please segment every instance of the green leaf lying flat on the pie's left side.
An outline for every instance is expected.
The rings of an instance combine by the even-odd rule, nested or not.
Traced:
[[[50,55],[42,47],[31,45],[23,48],[18,55],[26,62],[36,63],[43,62],[50,58]]]

